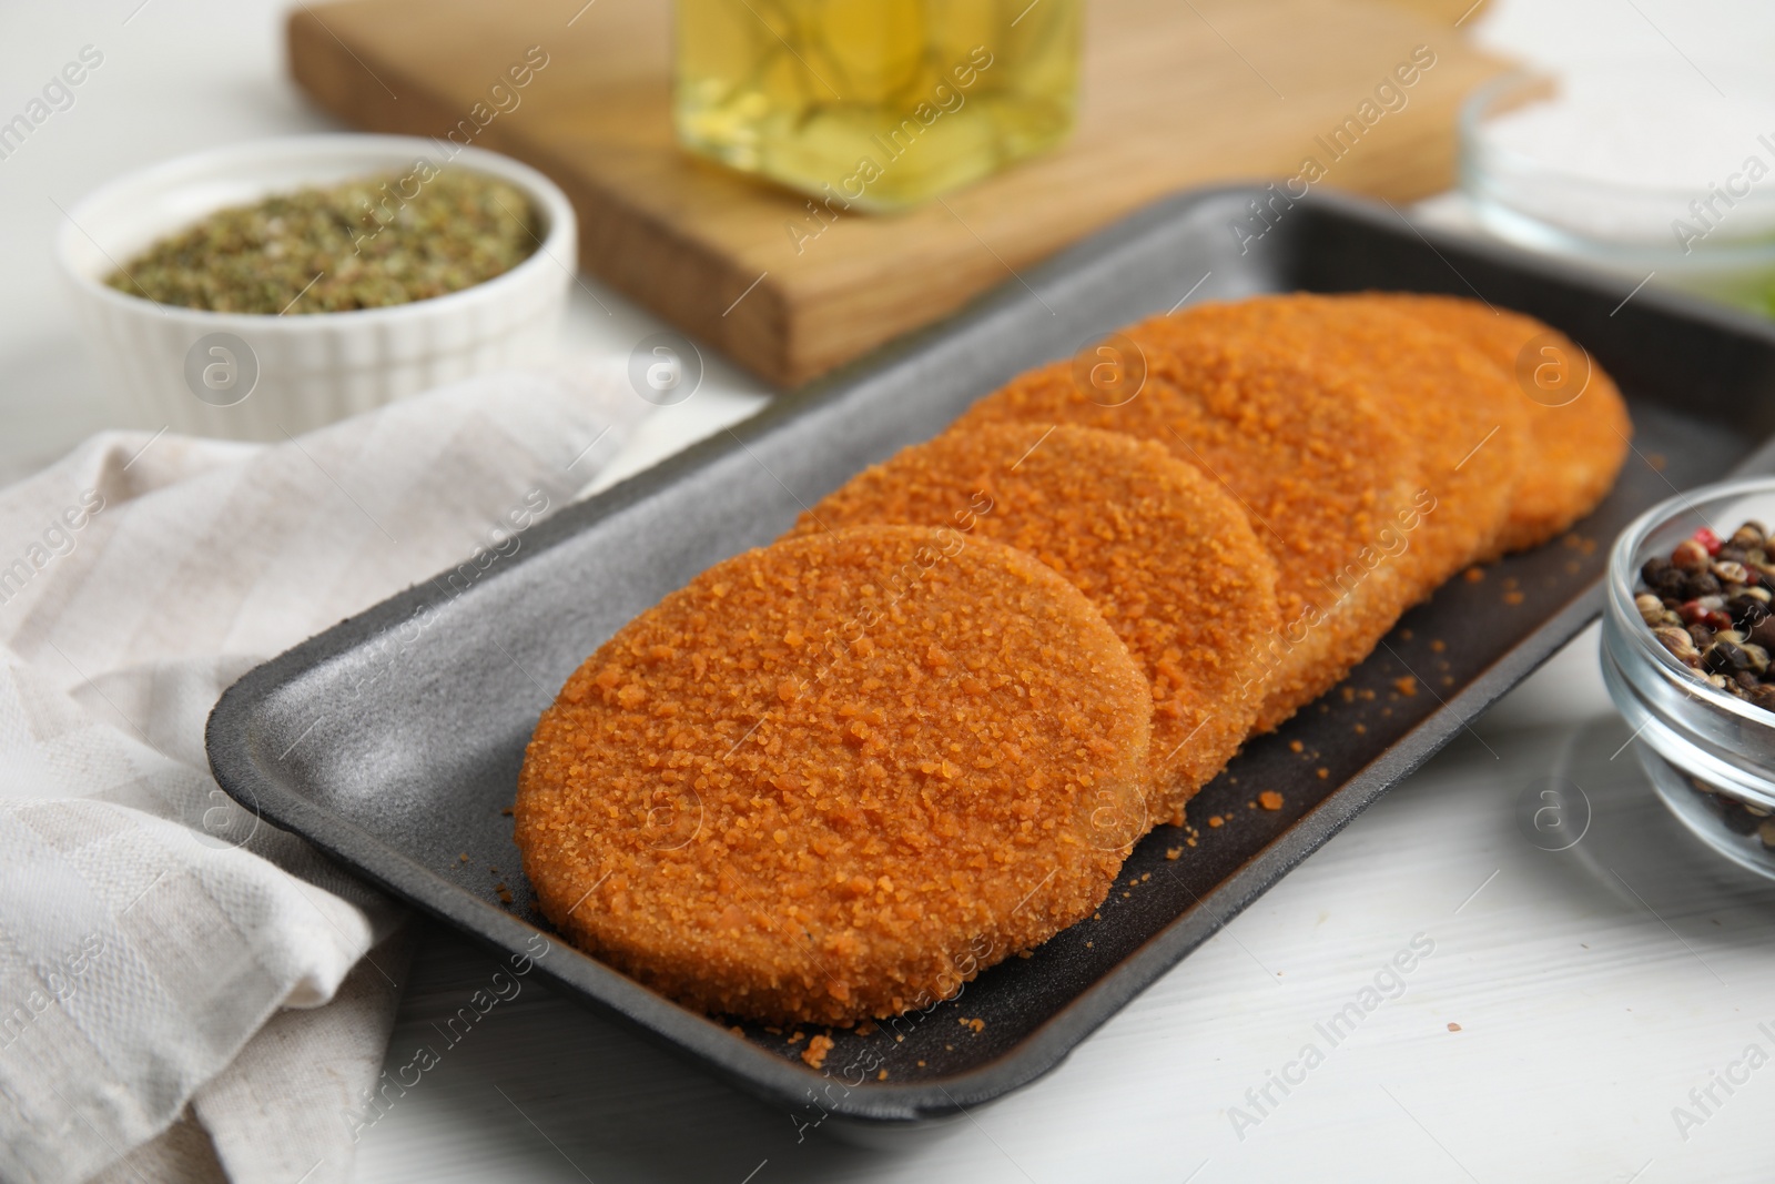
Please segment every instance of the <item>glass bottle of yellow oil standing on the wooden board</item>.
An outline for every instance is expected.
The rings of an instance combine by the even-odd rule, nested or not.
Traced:
[[[678,0],[678,140],[845,208],[978,181],[1072,128],[1083,0]]]

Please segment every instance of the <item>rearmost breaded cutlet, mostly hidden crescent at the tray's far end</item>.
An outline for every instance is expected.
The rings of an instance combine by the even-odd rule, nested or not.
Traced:
[[[1621,389],[1582,346],[1544,321],[1461,296],[1363,293],[1466,341],[1509,376],[1528,415],[1523,472],[1495,550],[1526,550],[1596,509],[1621,474],[1633,421]]]

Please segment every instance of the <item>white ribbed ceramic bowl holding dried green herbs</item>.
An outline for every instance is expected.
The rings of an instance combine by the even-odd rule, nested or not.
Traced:
[[[128,415],[147,428],[277,440],[550,355],[577,264],[573,208],[527,165],[447,147],[454,156],[438,140],[403,135],[254,140],[144,169],[69,209],[57,257]],[[209,312],[105,284],[131,256],[225,206],[378,172],[414,176],[415,162],[472,169],[525,190],[545,227],[541,247],[485,284],[355,312]]]

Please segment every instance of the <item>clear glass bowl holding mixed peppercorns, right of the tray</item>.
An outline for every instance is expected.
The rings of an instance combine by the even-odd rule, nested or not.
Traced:
[[[1628,525],[1608,557],[1601,662],[1665,806],[1727,859],[1775,879],[1775,714],[1683,666],[1633,604],[1647,559],[1700,527],[1729,538],[1747,520],[1775,524],[1775,478],[1677,493]]]

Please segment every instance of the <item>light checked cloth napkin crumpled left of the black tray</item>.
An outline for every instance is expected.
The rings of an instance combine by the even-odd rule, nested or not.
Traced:
[[[511,554],[651,410],[619,373],[272,446],[105,433],[0,490],[0,1180],[350,1179],[401,909],[231,802],[204,721],[257,662]]]

